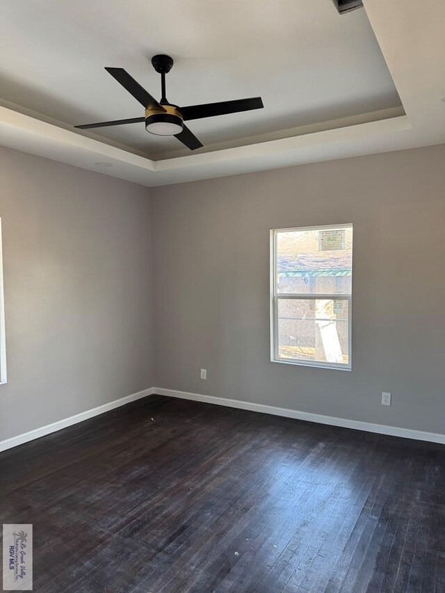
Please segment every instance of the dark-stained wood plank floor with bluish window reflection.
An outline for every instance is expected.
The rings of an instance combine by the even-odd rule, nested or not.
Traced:
[[[152,396],[0,476],[37,593],[445,592],[445,446]]]

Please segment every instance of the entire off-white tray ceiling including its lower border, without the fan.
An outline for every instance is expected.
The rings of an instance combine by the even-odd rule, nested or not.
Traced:
[[[426,4],[364,0],[339,16],[332,0],[3,3],[0,142],[147,186],[445,142],[445,7]],[[193,153],[143,124],[72,129],[143,115],[104,66],[159,97],[156,53],[175,58],[173,103],[261,95],[265,108],[190,122]]]

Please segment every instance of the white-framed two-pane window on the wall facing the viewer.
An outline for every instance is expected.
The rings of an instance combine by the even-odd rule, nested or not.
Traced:
[[[353,226],[270,231],[270,359],[351,368]]]

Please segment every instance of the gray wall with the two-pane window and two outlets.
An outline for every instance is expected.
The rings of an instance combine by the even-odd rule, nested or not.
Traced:
[[[439,146],[152,190],[156,386],[444,432],[444,188]],[[270,362],[269,229],[345,222],[353,371]]]

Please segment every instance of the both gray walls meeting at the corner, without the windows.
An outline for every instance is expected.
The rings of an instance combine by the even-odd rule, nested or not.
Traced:
[[[149,191],[0,149],[0,441],[152,385],[444,432],[444,163],[440,146]],[[344,222],[353,371],[271,363],[269,229]]]

